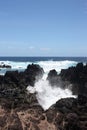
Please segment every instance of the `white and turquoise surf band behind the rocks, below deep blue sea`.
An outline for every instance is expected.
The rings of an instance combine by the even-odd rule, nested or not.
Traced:
[[[77,62],[75,61],[52,61],[52,60],[48,60],[48,61],[37,61],[37,62],[15,62],[15,61],[0,61],[0,65],[10,65],[11,69],[7,69],[7,68],[1,68],[0,71],[0,75],[1,74],[5,74],[5,72],[7,70],[19,70],[19,71],[24,71],[27,66],[29,64],[39,64],[45,72],[45,75],[47,75],[47,73],[52,70],[55,69],[58,73],[61,71],[61,69],[66,69],[70,66],[75,66],[77,64]]]

